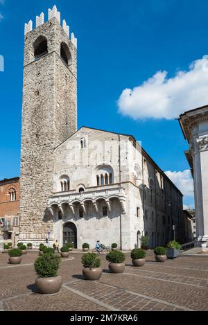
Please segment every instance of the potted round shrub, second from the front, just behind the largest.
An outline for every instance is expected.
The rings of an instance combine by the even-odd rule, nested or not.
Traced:
[[[96,253],[87,253],[82,257],[83,275],[87,280],[98,280],[102,275],[101,260]]]

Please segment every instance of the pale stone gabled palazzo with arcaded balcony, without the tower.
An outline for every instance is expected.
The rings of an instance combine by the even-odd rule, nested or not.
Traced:
[[[100,170],[112,173],[112,184],[98,183]],[[150,247],[166,245],[173,225],[182,239],[182,194],[131,135],[83,127],[58,146],[48,207],[60,245],[67,222],[76,226],[78,248],[101,240],[132,249],[143,235]]]

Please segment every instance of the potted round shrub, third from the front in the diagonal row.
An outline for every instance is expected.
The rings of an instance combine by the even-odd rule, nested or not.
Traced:
[[[110,273],[122,273],[125,268],[125,254],[121,251],[112,251],[106,255],[107,261],[109,261]]]

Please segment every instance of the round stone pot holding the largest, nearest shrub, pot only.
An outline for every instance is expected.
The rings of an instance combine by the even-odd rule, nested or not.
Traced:
[[[37,278],[35,284],[44,295],[50,295],[60,290],[62,286],[62,277],[60,275],[51,278]]]

